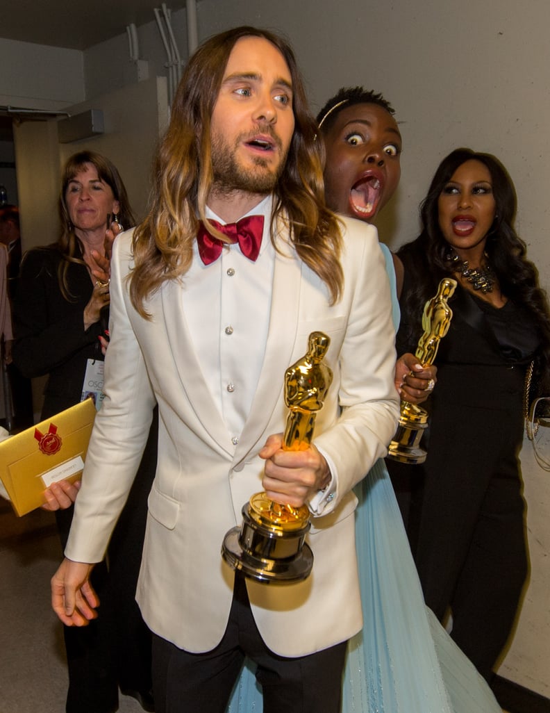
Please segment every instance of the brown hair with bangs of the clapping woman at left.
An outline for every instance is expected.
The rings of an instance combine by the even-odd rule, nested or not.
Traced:
[[[110,187],[113,191],[113,198],[118,200],[120,210],[117,217],[120,223],[125,228],[135,225],[135,217],[130,208],[128,194],[126,193],[123,180],[120,178],[120,173],[118,173],[114,163],[95,151],[79,151],[78,153],[73,153],[73,155],[67,159],[67,163],[63,168],[63,175],[61,176],[61,192],[59,194],[58,205],[59,220],[61,220],[61,235],[58,237],[57,242],[51,246],[61,253],[62,260],[58,267],[59,288],[61,289],[63,297],[69,302],[75,299],[68,287],[67,271],[69,265],[71,265],[71,262],[78,265],[84,265],[85,263],[82,258],[83,250],[80,240],[78,240],[74,226],[71,223],[71,217],[68,214],[66,193],[71,180],[73,180],[81,170],[85,170],[86,164],[88,163],[91,163],[95,167],[95,170],[98,172],[98,177],[103,183]],[[107,216],[105,216],[105,221],[106,220]],[[105,222],[105,229],[106,227],[107,224]]]

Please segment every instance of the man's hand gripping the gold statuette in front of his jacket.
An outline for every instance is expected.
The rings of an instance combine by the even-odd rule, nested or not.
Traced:
[[[313,445],[303,451],[283,451],[283,434],[269,436],[259,452],[266,461],[262,485],[271,500],[300,508],[331,481],[325,458]]]

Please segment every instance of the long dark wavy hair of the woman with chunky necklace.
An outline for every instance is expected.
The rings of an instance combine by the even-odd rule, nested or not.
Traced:
[[[426,198],[420,204],[422,232],[413,242],[403,245],[398,255],[405,262],[405,270],[413,279],[412,289],[401,305],[402,322],[409,333],[405,340],[415,344],[422,332],[420,315],[427,299],[435,294],[440,279],[452,274],[447,260],[449,244],[439,224],[438,200],[457,168],[469,160],[487,167],[491,174],[495,215],[487,233],[485,252],[499,280],[502,294],[525,309],[534,318],[539,330],[541,349],[536,358],[536,379],[541,391],[550,387],[550,310],[546,292],[539,287],[539,275],[532,262],[526,259],[526,245],[514,229],[517,209],[516,191],[512,179],[502,163],[490,153],[479,153],[469,148],[457,148],[437,167]]]

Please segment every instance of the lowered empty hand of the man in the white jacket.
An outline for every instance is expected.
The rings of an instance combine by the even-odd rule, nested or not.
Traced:
[[[51,578],[51,605],[63,624],[86,626],[98,616],[98,595],[90,585],[93,565],[65,558]]]

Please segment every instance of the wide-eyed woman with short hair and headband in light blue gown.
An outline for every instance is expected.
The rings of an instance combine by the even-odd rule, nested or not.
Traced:
[[[400,180],[403,141],[393,108],[380,94],[344,88],[326,103],[318,123],[326,148],[328,206],[373,222]],[[396,303],[403,263],[381,247]],[[397,328],[397,304],[394,321]],[[403,397],[420,403],[432,391],[436,370],[413,371],[415,347],[398,349],[404,356],[396,386]],[[384,461],[375,464],[356,494],[364,624],[348,647],[343,711],[500,711],[489,687],[425,607]]]

